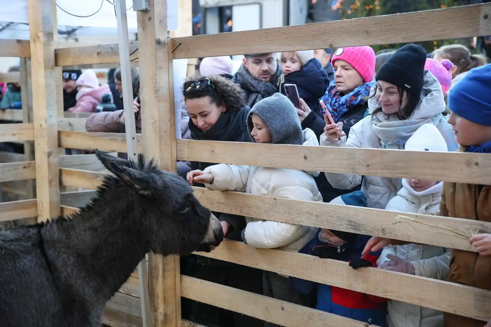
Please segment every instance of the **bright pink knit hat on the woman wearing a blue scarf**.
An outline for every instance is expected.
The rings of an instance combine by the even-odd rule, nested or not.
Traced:
[[[338,48],[332,56],[331,64],[334,65],[336,60],[344,60],[350,64],[365,83],[371,81],[375,75],[375,52],[369,46]]]

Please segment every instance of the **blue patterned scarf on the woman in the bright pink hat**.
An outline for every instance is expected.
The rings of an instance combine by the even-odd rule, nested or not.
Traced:
[[[375,80],[363,83],[355,88],[353,92],[342,95],[336,90],[336,83],[332,81],[326,90],[326,94],[321,99],[326,104],[334,122],[337,123],[345,112],[349,111],[358,102],[363,101],[364,97],[368,97],[374,84]],[[321,109],[321,113],[324,116],[325,111]]]

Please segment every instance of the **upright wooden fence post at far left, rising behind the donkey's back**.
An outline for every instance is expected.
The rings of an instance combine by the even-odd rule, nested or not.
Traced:
[[[60,214],[58,127],[52,0],[29,0],[38,221]]]

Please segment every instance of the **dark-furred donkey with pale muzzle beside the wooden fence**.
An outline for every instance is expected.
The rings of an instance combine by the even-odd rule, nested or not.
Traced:
[[[182,177],[95,153],[114,176],[79,213],[0,233],[0,327],[100,327],[147,252],[210,252],[223,240]]]

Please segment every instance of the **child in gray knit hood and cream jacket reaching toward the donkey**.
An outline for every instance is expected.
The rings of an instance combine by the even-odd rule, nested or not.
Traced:
[[[302,131],[297,110],[284,95],[257,102],[247,115],[247,128],[255,143],[318,146],[311,129]],[[188,182],[204,183],[214,191],[239,191],[255,195],[268,195],[304,201],[322,202],[314,176],[319,172],[304,172],[286,168],[268,168],[246,165],[219,164],[204,171],[188,173]],[[317,228],[279,223],[246,217],[243,240],[249,246],[262,249],[286,248],[299,251],[317,233]],[[264,272],[264,295],[309,305],[306,296],[297,293],[288,277]]]

